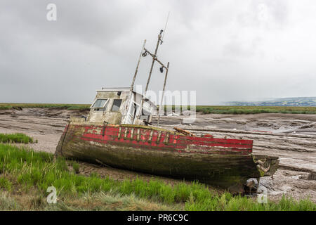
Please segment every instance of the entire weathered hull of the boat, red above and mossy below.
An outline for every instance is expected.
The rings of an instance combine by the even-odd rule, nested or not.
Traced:
[[[247,179],[265,175],[251,151],[249,140],[184,136],[152,127],[70,122],[55,154],[242,192]],[[272,165],[269,172],[274,173],[278,160],[268,160]]]

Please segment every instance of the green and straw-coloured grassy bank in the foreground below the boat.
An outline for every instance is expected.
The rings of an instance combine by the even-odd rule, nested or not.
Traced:
[[[2,210],[316,210],[310,200],[259,204],[230,193],[218,195],[195,182],[116,181],[81,176],[78,167],[63,158],[54,160],[50,153],[0,144]],[[46,203],[48,186],[58,191],[57,205]]]

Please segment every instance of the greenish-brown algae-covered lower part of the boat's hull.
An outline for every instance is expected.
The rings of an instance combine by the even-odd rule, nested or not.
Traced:
[[[101,139],[83,139],[87,126],[89,124],[70,123],[60,138],[56,155],[93,163],[102,162],[110,167],[147,174],[198,180],[212,186],[228,188],[232,192],[242,192],[249,178],[273,174],[278,164],[277,158],[264,155],[179,152],[172,146],[162,148],[155,144],[140,148],[137,141],[131,141],[131,136],[123,142],[112,140],[103,143],[102,136]],[[118,126],[113,127],[119,129]],[[136,128],[139,129],[139,126]],[[104,135],[107,136],[106,130]],[[161,142],[163,143],[163,139]],[[269,173],[257,168],[255,161],[263,159],[266,159],[267,164],[270,163]]]

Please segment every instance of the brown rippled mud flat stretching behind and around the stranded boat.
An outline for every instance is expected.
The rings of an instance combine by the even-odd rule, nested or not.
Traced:
[[[23,108],[0,110],[0,133],[22,132],[38,143],[29,144],[35,150],[55,152],[55,147],[70,115],[86,115],[86,110]],[[161,117],[161,127],[180,127],[194,134],[254,140],[254,153],[275,155],[280,159],[279,170],[273,177],[261,179],[268,188],[268,198],[278,200],[283,194],[295,199],[310,197],[316,203],[316,115],[256,114],[219,115],[197,114],[195,122],[183,124],[183,116]],[[155,124],[157,118],[154,118]],[[99,172],[114,179],[133,179],[146,174],[120,169],[101,168],[82,163],[81,173]],[[173,179],[164,179],[177,182]]]

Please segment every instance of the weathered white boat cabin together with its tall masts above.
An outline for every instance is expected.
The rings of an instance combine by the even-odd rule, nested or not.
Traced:
[[[70,117],[71,122],[90,122],[90,123],[108,123],[108,124],[136,124],[136,125],[148,125],[152,122],[152,115],[157,113],[157,106],[152,103],[148,98],[144,98],[147,93],[148,84],[150,83],[150,77],[152,75],[152,68],[154,62],[157,61],[161,65],[159,68],[160,72],[165,71],[164,76],[164,87],[162,89],[162,99],[160,105],[162,105],[162,100],[164,96],[164,89],[166,86],[166,78],[169,70],[169,63],[164,65],[160,60],[158,60],[156,54],[158,50],[159,43],[162,44],[162,32],[158,35],[156,49],[153,53],[150,53],[145,49],[144,41],[142,51],[138,59],[135,74],[133,76],[133,82],[130,87],[127,88],[102,88],[97,90],[96,98],[94,99],[88,117]],[[138,66],[140,64],[140,59],[149,54],[152,57],[152,66],[150,69],[150,74],[147,79],[147,84],[144,94],[138,94],[133,91],[134,82],[136,80]],[[156,114],[155,114],[156,115]],[[157,126],[159,126],[158,115]]]

